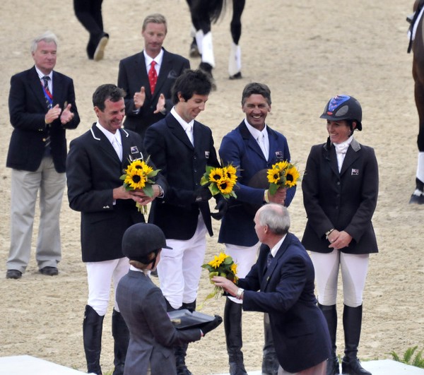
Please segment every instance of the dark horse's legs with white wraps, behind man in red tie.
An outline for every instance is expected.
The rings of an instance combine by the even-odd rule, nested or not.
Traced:
[[[195,29],[190,55],[196,55],[194,47],[197,47],[199,56],[201,56],[199,68],[212,76],[215,57],[213,56],[211,23],[216,23],[220,18],[223,9],[225,9],[226,0],[187,0],[187,4],[189,4],[192,24]],[[238,43],[242,35],[241,18],[244,8],[245,0],[232,0],[232,20],[230,23],[232,45],[228,62],[230,79],[242,78],[241,52]]]

